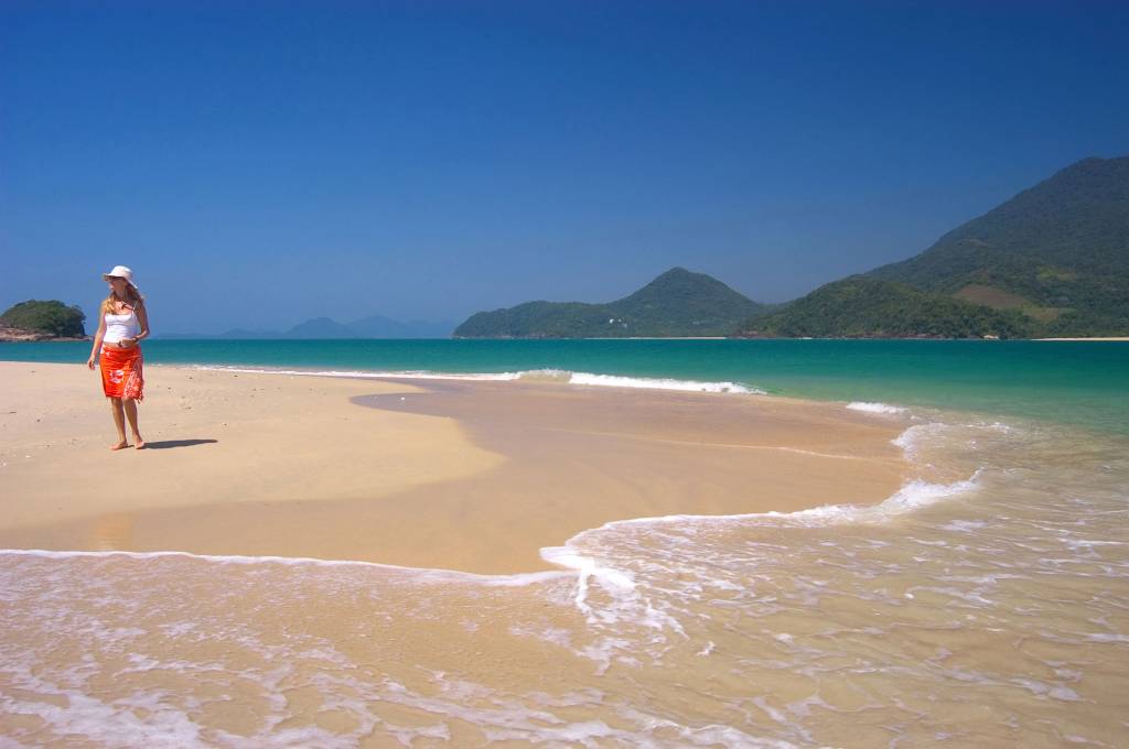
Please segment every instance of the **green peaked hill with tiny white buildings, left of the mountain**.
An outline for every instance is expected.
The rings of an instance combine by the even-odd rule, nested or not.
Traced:
[[[531,301],[472,315],[456,338],[720,336],[763,305],[704,273],[675,267],[616,301]]]

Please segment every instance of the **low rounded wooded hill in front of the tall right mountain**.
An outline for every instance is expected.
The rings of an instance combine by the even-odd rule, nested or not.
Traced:
[[[1024,337],[1031,320],[904,283],[855,275],[746,323],[741,335],[813,338]]]

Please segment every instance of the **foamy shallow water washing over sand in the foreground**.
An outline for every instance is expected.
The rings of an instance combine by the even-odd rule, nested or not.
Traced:
[[[872,412],[918,474],[882,505],[610,523],[559,573],[0,553],[0,735],[1124,746],[1129,441]]]

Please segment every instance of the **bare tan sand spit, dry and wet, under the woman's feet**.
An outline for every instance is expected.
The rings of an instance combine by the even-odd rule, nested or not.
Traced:
[[[0,547],[555,571],[542,548],[610,521],[875,503],[908,467],[900,421],[837,404],[147,370],[156,449],[122,455],[93,373],[0,363],[26,378],[0,403]]]

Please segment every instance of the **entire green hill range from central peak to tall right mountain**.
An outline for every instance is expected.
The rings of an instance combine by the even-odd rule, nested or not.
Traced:
[[[970,284],[1016,309],[953,297]],[[789,337],[1129,335],[1129,157],[1079,161],[916,257],[779,308],[674,268],[609,305],[530,302],[480,312],[455,335],[725,335],[741,319],[738,335]]]

